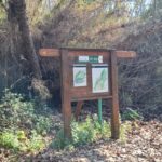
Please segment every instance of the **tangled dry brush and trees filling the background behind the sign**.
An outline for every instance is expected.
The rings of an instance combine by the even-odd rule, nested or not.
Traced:
[[[120,62],[120,96],[123,107],[161,105],[158,97],[161,94],[161,5],[160,0],[26,1],[36,52],[42,46],[116,48],[137,52],[136,59]],[[58,62],[40,58],[37,65],[37,59],[31,62],[32,58],[28,58],[26,53],[35,55],[35,51],[22,49],[22,43],[25,42],[22,42],[24,38],[18,18],[8,14],[8,4],[1,2],[0,92],[12,89],[32,96],[33,85],[37,94],[44,91],[46,94],[48,90],[42,86],[45,85],[55,103],[59,103]],[[150,45],[152,42],[154,45]],[[42,76],[44,83],[35,80],[31,84],[32,77],[39,78],[38,76]],[[145,99],[148,95],[151,98],[149,104]]]

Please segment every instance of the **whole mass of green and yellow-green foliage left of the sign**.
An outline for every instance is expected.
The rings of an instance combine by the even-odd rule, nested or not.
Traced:
[[[42,135],[50,131],[52,120],[48,112],[39,112],[35,100],[27,102],[22,95],[5,91],[0,103],[0,145],[15,151],[44,148]]]

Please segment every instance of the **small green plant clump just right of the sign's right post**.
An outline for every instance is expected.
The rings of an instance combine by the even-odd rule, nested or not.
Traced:
[[[123,120],[137,120],[137,119],[143,119],[143,117],[137,112],[137,110],[133,110],[129,108],[122,114],[122,119]]]

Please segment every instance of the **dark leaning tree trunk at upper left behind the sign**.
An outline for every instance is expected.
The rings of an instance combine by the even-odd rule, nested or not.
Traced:
[[[41,79],[39,59],[36,54],[33,40],[30,33],[28,19],[26,15],[25,0],[9,0],[10,17],[16,19],[22,37],[24,57],[29,62],[32,77]]]

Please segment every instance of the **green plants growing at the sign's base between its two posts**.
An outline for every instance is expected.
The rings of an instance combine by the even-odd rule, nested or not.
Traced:
[[[72,141],[64,138],[64,131],[60,129],[56,135],[56,138],[52,143],[52,147],[56,149],[64,149],[90,144],[96,141],[99,138],[110,137],[110,126],[104,121],[100,125],[98,118],[94,116],[93,119],[86,118],[84,122],[71,122]]]

